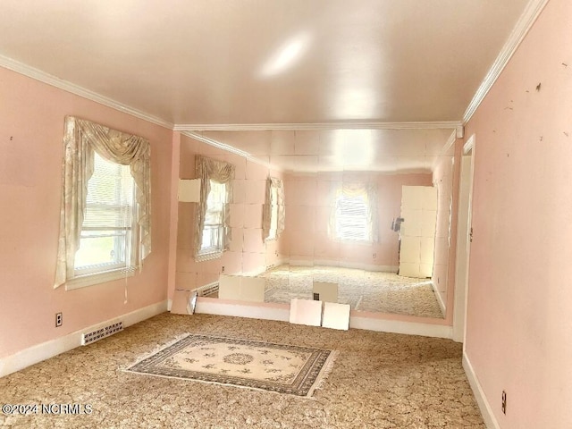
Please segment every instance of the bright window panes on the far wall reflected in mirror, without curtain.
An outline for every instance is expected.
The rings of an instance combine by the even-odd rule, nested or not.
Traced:
[[[366,194],[347,196],[340,192],[335,202],[335,231],[339,240],[371,240]]]

